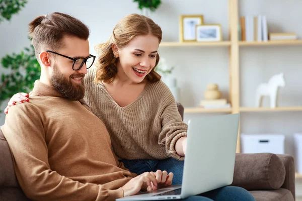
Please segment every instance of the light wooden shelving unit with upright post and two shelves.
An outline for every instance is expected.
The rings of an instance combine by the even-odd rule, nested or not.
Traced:
[[[255,113],[255,112],[292,112],[302,111],[302,106],[297,107],[279,107],[271,108],[246,108],[240,107],[240,48],[253,46],[287,46],[302,45],[302,40],[286,41],[268,41],[268,42],[246,42],[239,41],[239,0],[229,0],[229,41],[221,42],[162,42],[160,47],[227,47],[229,48],[230,66],[229,66],[229,103],[230,109],[202,109],[202,108],[185,108],[185,113]],[[283,48],[283,47],[280,47]],[[241,152],[240,130],[238,133],[237,153]],[[302,178],[302,175],[296,174],[296,177]]]

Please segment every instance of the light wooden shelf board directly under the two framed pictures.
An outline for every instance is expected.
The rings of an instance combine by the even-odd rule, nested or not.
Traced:
[[[160,47],[185,47],[185,46],[231,46],[231,41],[217,42],[161,42]]]

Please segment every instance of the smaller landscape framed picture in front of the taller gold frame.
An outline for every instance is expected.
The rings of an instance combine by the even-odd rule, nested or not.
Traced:
[[[221,41],[221,25],[196,25],[196,41]]]

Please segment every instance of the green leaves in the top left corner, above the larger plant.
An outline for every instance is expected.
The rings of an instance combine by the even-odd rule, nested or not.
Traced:
[[[26,0],[0,0],[0,22],[4,19],[10,21],[14,14],[19,13],[27,4]]]

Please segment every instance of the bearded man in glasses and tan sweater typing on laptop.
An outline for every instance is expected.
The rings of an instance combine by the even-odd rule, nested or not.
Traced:
[[[34,200],[115,200],[171,185],[172,173],[130,173],[116,159],[103,122],[79,102],[95,60],[89,29],[52,13],[37,17],[29,31],[41,77],[31,101],[12,107],[2,127],[25,194]]]

